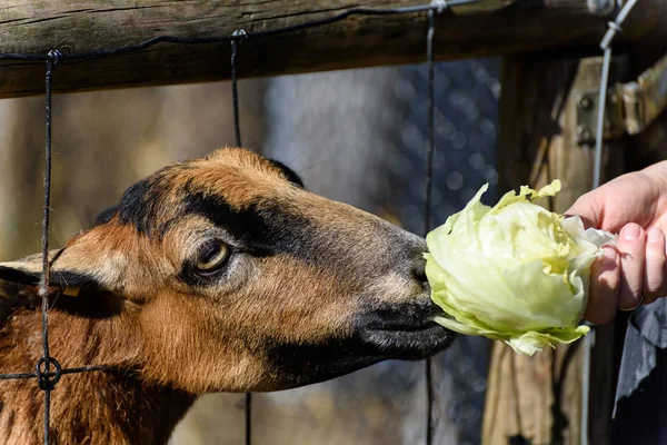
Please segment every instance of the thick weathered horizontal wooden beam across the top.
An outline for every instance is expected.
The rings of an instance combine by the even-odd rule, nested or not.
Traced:
[[[637,39],[659,20],[647,0],[624,23]],[[133,46],[159,36],[210,38],[272,30],[323,19],[354,7],[426,4],[427,0],[4,0],[0,53],[64,55]],[[581,48],[597,44],[608,18],[581,0],[484,0],[455,7],[437,20],[438,59]],[[273,76],[424,61],[426,13],[352,16],[291,34],[249,39],[240,46],[239,75]],[[63,61],[56,92],[228,79],[229,42],[159,43],[140,51]],[[0,98],[43,92],[43,62],[1,61]]]

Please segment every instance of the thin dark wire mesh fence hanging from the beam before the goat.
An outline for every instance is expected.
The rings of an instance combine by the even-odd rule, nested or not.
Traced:
[[[50,259],[49,259],[49,216],[50,216],[50,190],[51,190],[51,158],[52,158],[52,147],[51,147],[51,86],[52,86],[52,73],[53,67],[60,62],[61,60],[76,60],[76,59],[89,59],[89,58],[99,58],[126,52],[135,52],[141,49],[146,49],[153,44],[160,42],[172,42],[172,43],[211,43],[211,42],[223,42],[229,41],[232,46],[231,52],[231,73],[232,73],[232,88],[233,88],[233,117],[235,117],[235,135],[237,145],[240,146],[240,130],[239,130],[239,121],[238,121],[238,90],[237,90],[237,79],[236,79],[236,58],[238,46],[240,40],[249,39],[249,38],[260,38],[260,37],[269,37],[277,36],[282,33],[296,32],[299,30],[303,30],[307,28],[325,26],[329,23],[334,23],[336,21],[345,20],[346,18],[354,14],[365,14],[365,16],[384,16],[384,14],[397,14],[397,13],[416,13],[416,12],[425,12],[429,13],[429,29],[428,33],[428,61],[429,67],[432,71],[432,32],[434,32],[434,11],[442,11],[442,9],[448,8],[449,6],[470,3],[476,0],[451,0],[449,3],[440,0],[434,2],[431,4],[426,6],[417,6],[417,7],[407,7],[407,8],[390,8],[390,9],[370,9],[370,8],[354,8],[349,9],[339,14],[315,20],[306,23],[300,23],[297,26],[286,27],[281,29],[273,29],[268,31],[259,31],[255,33],[246,33],[245,31],[237,31],[231,36],[219,36],[219,37],[210,37],[210,38],[181,38],[176,36],[162,36],[155,39],[150,39],[148,41],[141,42],[136,46],[128,46],[122,48],[117,48],[113,50],[102,50],[102,51],[91,51],[91,52],[80,52],[80,53],[61,53],[58,49],[53,49],[49,51],[47,55],[19,55],[19,53],[2,53],[0,55],[0,59],[6,60],[33,60],[33,61],[46,61],[46,155],[44,155],[44,206],[43,206],[43,217],[42,217],[42,275],[39,286],[39,293],[42,298],[41,305],[41,314],[42,314],[42,344],[43,344],[43,356],[36,364],[34,369],[34,378],[37,379],[38,387],[44,392],[44,444],[48,445],[50,442],[49,432],[50,432],[50,399],[51,399],[51,390],[56,387],[56,384],[60,380],[63,372],[61,365],[58,360],[50,355],[49,352],[49,330],[48,330],[48,313],[49,313],[49,268],[50,268]],[[432,91],[432,81],[434,78],[430,78],[430,91]],[[432,98],[432,95],[430,96]],[[432,100],[429,102],[429,109],[431,109],[430,116],[432,118]],[[432,122],[431,122],[432,126]],[[432,139],[429,145],[429,159],[432,161]],[[430,171],[430,164],[428,167]],[[427,175],[427,184],[430,186],[430,176]],[[430,189],[430,187],[428,187]],[[430,191],[427,194],[427,197],[430,199]],[[426,202],[427,208],[429,209],[427,212],[430,214],[430,201]],[[54,372],[51,373],[51,366],[53,366]],[[101,367],[97,366],[86,366],[78,369],[67,369],[69,373],[82,373],[89,370],[99,370]],[[32,374],[32,373],[28,373]],[[24,376],[27,376],[26,374]],[[11,379],[17,378],[17,374],[3,374],[0,375],[0,379]],[[28,376],[31,378],[32,375]],[[430,366],[427,366],[427,385],[428,390],[430,392],[431,382],[430,382]],[[251,396],[247,396],[247,434],[246,434],[246,443],[250,444],[250,433],[251,433],[251,413],[250,413],[250,402]],[[427,414],[427,443],[431,441],[431,416],[430,416],[430,398],[429,398],[429,407]]]

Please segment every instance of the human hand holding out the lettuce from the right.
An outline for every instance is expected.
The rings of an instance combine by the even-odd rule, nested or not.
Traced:
[[[616,248],[604,247],[604,256],[593,264],[586,319],[608,323],[617,309],[667,295],[667,161],[589,191],[566,215],[579,215],[587,227],[619,235]]]

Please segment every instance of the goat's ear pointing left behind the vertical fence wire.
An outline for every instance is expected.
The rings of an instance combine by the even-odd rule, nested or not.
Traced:
[[[69,249],[51,250],[50,284],[62,289],[74,289],[80,287],[103,287],[102,284],[88,270],[71,268],[67,266]],[[89,264],[94,267],[94,261]],[[21,285],[38,285],[42,273],[41,254],[31,255],[16,261],[0,263],[0,279]]]

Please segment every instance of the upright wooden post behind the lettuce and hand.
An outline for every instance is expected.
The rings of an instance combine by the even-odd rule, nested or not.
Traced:
[[[500,103],[500,190],[551,179],[564,190],[544,202],[564,212],[593,182],[594,148],[577,144],[579,91],[596,87],[601,58],[505,60]],[[614,81],[627,80],[628,58],[615,58]],[[604,151],[604,177],[623,167],[623,140]],[[485,445],[579,444],[583,342],[534,357],[495,344],[484,421]],[[597,332],[591,357],[589,444],[607,444],[614,395],[614,327]]]

